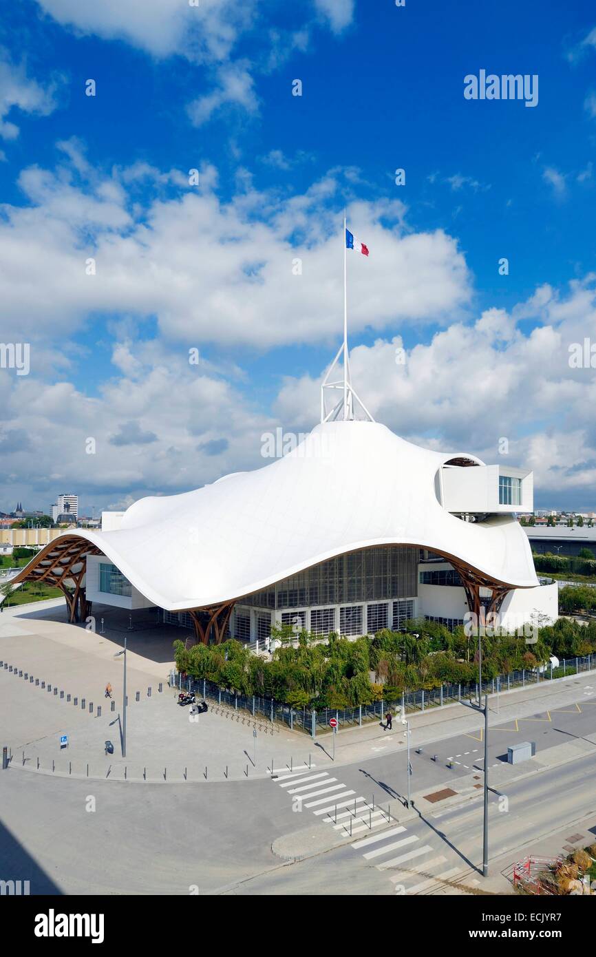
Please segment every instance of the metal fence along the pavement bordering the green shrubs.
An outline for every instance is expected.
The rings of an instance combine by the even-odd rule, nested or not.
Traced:
[[[565,678],[569,675],[579,675],[584,671],[591,671],[596,666],[596,655],[584,655],[565,658],[559,667],[553,668],[552,662],[541,668],[522,668],[512,671],[509,675],[498,676],[488,681],[482,681],[482,694],[495,695],[501,691],[511,691],[512,688],[521,688],[543,681],[552,681]],[[384,701],[374,701],[371,704],[357,704],[351,708],[320,708],[318,711],[311,708],[292,708],[289,704],[275,701],[272,698],[261,698],[258,695],[241,695],[233,691],[220,688],[219,685],[206,679],[192,679],[179,672],[170,672],[170,687],[179,690],[193,691],[205,699],[218,701],[219,704],[228,704],[234,709],[249,711],[253,716],[259,715],[274,722],[286,724],[291,730],[295,728],[305,731],[313,738],[318,732],[330,731],[329,721],[335,718],[338,727],[362,726],[364,723],[383,721],[387,711],[395,712],[402,708],[404,713],[427,711],[429,708],[443,707],[455,701],[467,701],[477,698],[478,684],[476,682],[462,682],[460,684],[444,683],[438,688],[419,691],[404,691],[399,698],[390,698]]]

